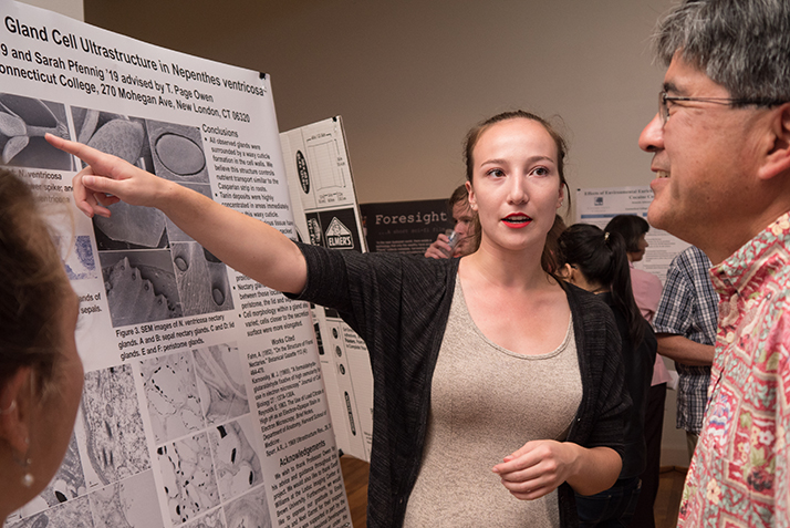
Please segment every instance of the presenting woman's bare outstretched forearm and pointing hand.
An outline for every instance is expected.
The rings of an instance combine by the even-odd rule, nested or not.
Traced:
[[[76,206],[89,217],[110,217],[107,206],[118,200],[155,207],[235,270],[278,291],[299,293],[304,288],[302,252],[268,224],[87,145],[52,134],[46,141],[89,165],[73,182]]]

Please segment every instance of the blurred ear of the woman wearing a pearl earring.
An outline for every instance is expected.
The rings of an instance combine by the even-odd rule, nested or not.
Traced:
[[[0,441],[24,455],[30,443],[28,421],[32,410],[32,369],[22,366],[0,387]]]

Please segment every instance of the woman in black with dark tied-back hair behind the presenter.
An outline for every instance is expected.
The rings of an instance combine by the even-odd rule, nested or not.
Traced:
[[[645,402],[656,356],[656,339],[640,313],[631,291],[631,275],[623,238],[586,224],[575,224],[560,235],[560,275],[596,293],[612,309],[623,342],[625,380],[633,401],[625,425],[625,455],[616,484],[597,495],[576,496],[581,526],[627,526],[640,495],[645,468],[643,435]]]

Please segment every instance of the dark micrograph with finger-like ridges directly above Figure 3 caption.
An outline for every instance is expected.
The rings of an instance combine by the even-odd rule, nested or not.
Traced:
[[[113,327],[184,314],[169,251],[102,251],[98,259]]]

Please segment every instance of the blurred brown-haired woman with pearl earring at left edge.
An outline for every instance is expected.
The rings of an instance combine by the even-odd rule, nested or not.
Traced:
[[[82,394],[71,289],[35,199],[0,170],[0,524],[41,493],[65,454]]]

